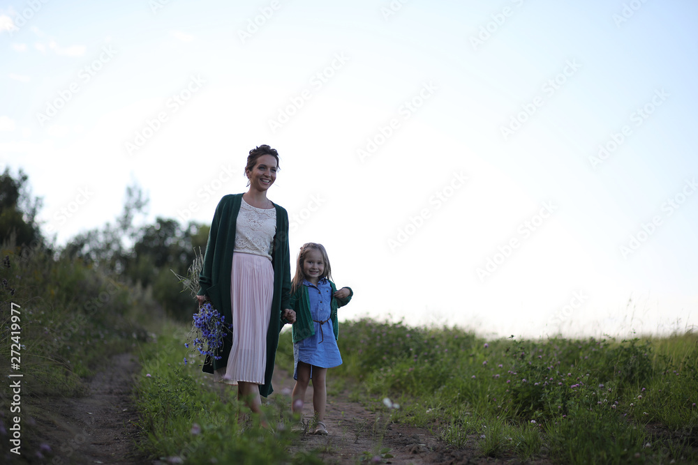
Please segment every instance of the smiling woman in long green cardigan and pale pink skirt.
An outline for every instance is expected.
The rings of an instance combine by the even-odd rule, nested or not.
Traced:
[[[199,304],[210,300],[232,322],[221,359],[207,357],[203,371],[214,374],[214,381],[237,385],[238,399],[245,399],[253,413],[261,413],[260,395],[272,393],[281,326],[295,321],[295,312],[288,310],[288,213],[267,199],[278,169],[274,148],[250,151],[249,190],[218,203],[199,276]]]

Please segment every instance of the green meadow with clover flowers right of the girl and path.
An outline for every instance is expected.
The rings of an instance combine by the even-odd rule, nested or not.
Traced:
[[[399,402],[397,421],[455,448],[566,464],[698,462],[695,334],[486,341],[362,320],[344,324],[340,342],[335,375]]]

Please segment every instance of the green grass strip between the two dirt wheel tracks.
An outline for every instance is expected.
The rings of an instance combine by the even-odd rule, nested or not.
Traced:
[[[287,396],[274,395],[262,406],[274,431],[261,427],[234,388],[214,385],[197,363],[184,365],[185,333],[170,323],[156,342],[141,346],[135,400],[147,455],[188,464],[322,463],[315,451],[289,452],[298,441],[290,427],[299,418],[291,416]]]

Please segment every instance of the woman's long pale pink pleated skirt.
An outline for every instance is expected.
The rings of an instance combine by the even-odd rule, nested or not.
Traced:
[[[214,381],[264,384],[267,330],[274,297],[274,268],[261,255],[232,254],[232,349],[228,366],[216,369]]]

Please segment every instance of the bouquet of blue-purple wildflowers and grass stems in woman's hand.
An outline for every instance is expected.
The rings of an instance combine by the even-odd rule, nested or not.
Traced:
[[[201,266],[204,262],[204,257],[194,250],[194,261],[191,266],[189,266],[186,276],[180,276],[174,273],[179,279],[184,291],[189,291],[192,296],[196,296],[199,290],[199,272]],[[223,348],[223,337],[225,337],[225,328],[229,328],[230,324],[225,324],[225,317],[221,315],[210,303],[205,303],[199,307],[199,311],[193,315],[193,322],[191,325],[191,330],[186,337],[186,342],[184,346],[189,348],[193,346],[193,349],[197,349],[202,356],[209,356],[216,360],[220,360],[221,357],[217,356],[216,353],[218,349]],[[187,360],[184,358],[184,365],[186,365]]]

